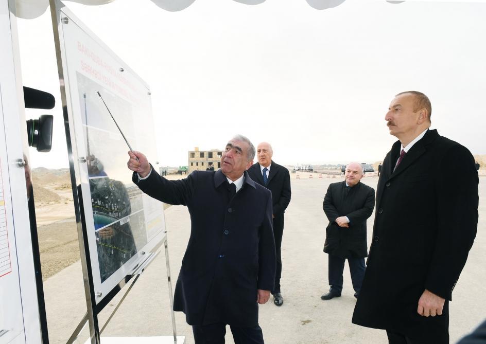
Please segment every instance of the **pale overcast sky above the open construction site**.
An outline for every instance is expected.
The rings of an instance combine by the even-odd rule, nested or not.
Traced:
[[[238,133],[270,142],[285,165],[379,161],[396,140],[388,105],[411,89],[429,96],[433,129],[486,154],[485,3],[66,4],[150,86],[160,166],[187,165],[187,151],[222,149]],[[26,110],[55,116],[53,149],[32,150],[31,166],[68,167],[49,10],[18,27],[24,85],[57,101]]]

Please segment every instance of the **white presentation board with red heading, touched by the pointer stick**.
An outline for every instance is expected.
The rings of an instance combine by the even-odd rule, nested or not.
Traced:
[[[71,172],[81,189],[85,249],[98,304],[165,237],[162,203],[133,184],[122,136],[156,161],[156,132],[145,82],[66,7],[60,17]]]

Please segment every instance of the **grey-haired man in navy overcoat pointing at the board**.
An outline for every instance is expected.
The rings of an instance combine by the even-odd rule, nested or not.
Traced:
[[[253,144],[235,136],[220,170],[194,171],[182,180],[161,177],[140,152],[129,155],[133,182],[143,192],[188,207],[191,232],[174,310],[185,313],[196,343],[224,343],[227,324],[235,343],[263,343],[258,303],[267,302],[273,289],[275,243],[272,195],[246,172]]]

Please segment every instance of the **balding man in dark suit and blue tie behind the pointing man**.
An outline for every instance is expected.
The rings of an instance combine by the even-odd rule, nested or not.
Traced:
[[[284,212],[290,203],[290,173],[287,168],[272,160],[273,149],[270,143],[259,143],[256,148],[256,162],[248,170],[250,177],[256,183],[263,185],[272,192],[273,236],[276,249],[275,286],[272,290],[273,303],[281,306],[284,298],[280,290],[282,278],[282,236],[284,233]]]

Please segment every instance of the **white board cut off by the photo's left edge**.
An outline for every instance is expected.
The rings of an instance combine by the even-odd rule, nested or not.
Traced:
[[[0,61],[0,343],[40,343],[20,58],[6,1],[0,2]]]

